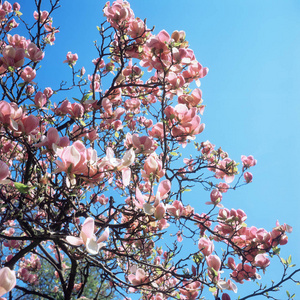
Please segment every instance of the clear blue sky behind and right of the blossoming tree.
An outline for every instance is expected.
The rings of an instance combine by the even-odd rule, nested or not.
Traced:
[[[21,11],[26,13],[28,7],[22,2]],[[258,161],[252,170],[253,183],[227,193],[223,203],[243,209],[248,225],[271,230],[277,219],[292,225],[294,232],[282,253],[285,257],[292,254],[300,266],[300,1],[130,3],[136,16],[147,18],[149,27],[155,25],[156,33],[184,30],[198,61],[210,69],[201,81],[206,129],[198,141],[209,139],[236,161],[241,154],[252,154]],[[48,63],[39,75],[41,82],[52,86],[63,78],[54,62],[62,62],[68,51],[78,53],[78,67],[91,66],[96,57],[92,42],[98,39],[96,25],[103,21],[104,4],[62,1],[53,23],[61,26],[61,32],[55,46],[46,51]],[[197,199],[196,192],[192,205],[193,201],[208,200]],[[300,293],[300,288],[292,290]]]

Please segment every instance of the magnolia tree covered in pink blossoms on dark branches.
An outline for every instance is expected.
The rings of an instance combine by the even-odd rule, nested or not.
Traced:
[[[58,0],[34,2],[29,16],[18,3],[0,8],[0,296],[276,299],[296,282],[299,269],[281,259],[279,282],[243,289],[264,276],[292,228],[247,226],[243,210],[222,202],[252,181],[256,160],[242,155],[238,170],[199,141],[208,69],[185,32],[154,34],[128,2],[107,2],[93,72],[68,52],[69,84],[49,87],[39,68],[59,34]],[[191,188],[210,193],[201,211]]]

